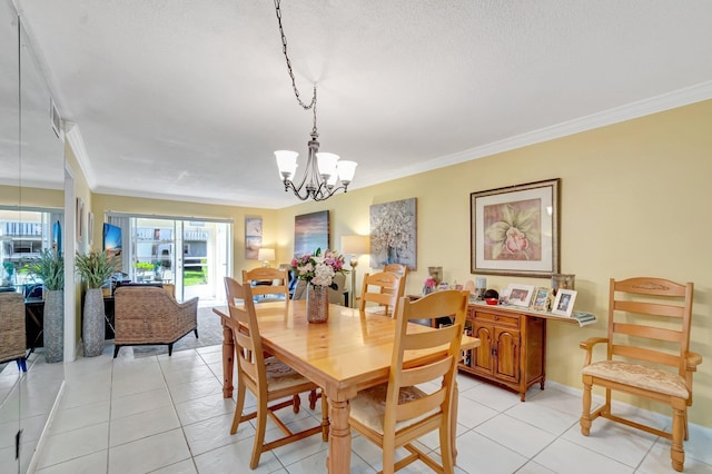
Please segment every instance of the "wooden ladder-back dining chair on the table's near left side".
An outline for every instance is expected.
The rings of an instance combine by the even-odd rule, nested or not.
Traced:
[[[253,287],[240,285],[230,277],[225,277],[225,286],[229,297],[230,320],[228,324],[233,329],[235,358],[237,361],[237,404],[230,434],[237,433],[240,423],[257,418],[253,455],[249,464],[250,470],[254,470],[259,464],[261,453],[267,451],[304,440],[317,433],[322,433],[322,440],[327,441],[328,406],[326,397],[322,397],[322,424],[299,432],[293,432],[277,417],[275,412],[294,405],[294,395],[298,397],[300,393],[316,391],[318,387],[276,357],[265,357],[263,342],[259,336],[259,323],[253,300]],[[235,298],[241,299],[244,303],[236,305]],[[253,413],[243,414],[246,389],[249,389],[257,399],[257,407]],[[298,406],[296,408],[298,409]],[[265,443],[267,416],[281,429],[284,436]]]

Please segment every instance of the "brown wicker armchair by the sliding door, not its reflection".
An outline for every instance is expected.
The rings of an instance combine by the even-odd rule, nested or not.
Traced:
[[[165,289],[125,286],[115,293],[113,357],[122,346],[168,345],[191,330],[198,337],[198,298],[178,303]]]

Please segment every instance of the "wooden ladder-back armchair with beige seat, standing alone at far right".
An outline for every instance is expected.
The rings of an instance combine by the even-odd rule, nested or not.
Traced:
[[[693,284],[662,278],[611,278],[607,337],[581,343],[586,350],[581,433],[589,436],[599,416],[672,441],[672,467],[682,471],[688,440],[688,407],[692,405],[692,373],[702,356],[690,352]],[[606,357],[591,362],[593,347],[606,345]],[[605,388],[605,403],[591,412],[593,386]],[[611,392],[661,402],[672,408],[672,433],[634,422],[611,409]]]

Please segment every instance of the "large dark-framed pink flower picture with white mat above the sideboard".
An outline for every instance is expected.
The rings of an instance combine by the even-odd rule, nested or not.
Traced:
[[[528,277],[558,273],[560,181],[469,195],[471,273]]]

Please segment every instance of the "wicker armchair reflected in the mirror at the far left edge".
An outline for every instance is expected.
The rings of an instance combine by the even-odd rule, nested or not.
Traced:
[[[24,297],[20,293],[0,293],[0,363],[17,361],[27,372]]]

